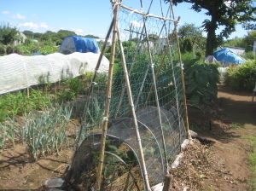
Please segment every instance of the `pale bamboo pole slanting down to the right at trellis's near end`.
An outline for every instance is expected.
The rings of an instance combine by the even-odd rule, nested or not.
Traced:
[[[125,54],[124,54],[123,45],[120,41],[119,29],[117,30],[117,34],[118,34],[118,38],[119,38],[119,46],[120,46],[120,49],[121,49],[122,65],[123,65],[124,76],[125,76],[125,87],[126,87],[126,91],[127,91],[128,98],[129,98],[129,104],[131,106],[131,116],[132,116],[134,129],[135,129],[135,132],[136,132],[137,147],[138,147],[138,153],[139,153],[139,158],[140,158],[139,162],[142,164],[142,167],[143,167],[142,171],[143,171],[143,177],[144,177],[144,181],[145,181],[144,185],[145,185],[146,190],[151,190],[149,182],[148,182],[148,172],[147,172],[145,159],[144,159],[144,154],[143,154],[143,146],[142,146],[142,142],[141,142],[141,136],[140,136],[140,132],[139,132],[139,129],[138,129],[138,124],[137,124],[137,116],[136,116],[136,113],[135,113],[135,107],[134,107],[132,94],[131,94],[131,85],[130,85],[130,80],[129,80],[129,72],[127,71],[127,67],[126,67]]]

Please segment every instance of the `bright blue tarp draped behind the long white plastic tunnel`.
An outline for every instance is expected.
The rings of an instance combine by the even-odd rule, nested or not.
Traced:
[[[77,37],[77,36],[72,36],[72,37],[73,37],[77,52],[98,53],[99,47],[98,47],[98,43],[96,42],[96,39],[94,39],[94,38],[82,38],[82,37]]]

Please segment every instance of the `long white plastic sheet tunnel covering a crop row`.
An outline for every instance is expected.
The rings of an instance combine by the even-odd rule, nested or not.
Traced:
[[[0,56],[0,94],[21,90],[32,85],[55,83],[95,72],[100,54],[79,53],[62,55]],[[108,72],[109,61],[103,56],[98,72]]]

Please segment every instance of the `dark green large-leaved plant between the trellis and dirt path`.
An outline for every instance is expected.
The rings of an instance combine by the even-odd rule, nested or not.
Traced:
[[[184,80],[187,99],[192,104],[208,102],[217,96],[219,72],[216,64],[202,63],[191,53],[183,55]]]

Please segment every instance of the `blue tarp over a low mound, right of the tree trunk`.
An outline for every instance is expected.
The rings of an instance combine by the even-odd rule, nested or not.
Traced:
[[[236,55],[234,52],[232,52],[228,48],[219,49],[213,53],[214,58],[217,61],[224,61],[224,66],[226,66],[228,63],[234,63],[234,64],[241,64],[245,62],[241,56]]]

